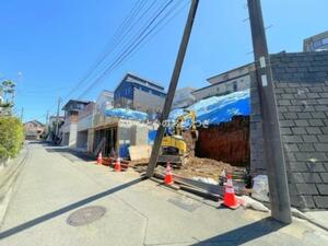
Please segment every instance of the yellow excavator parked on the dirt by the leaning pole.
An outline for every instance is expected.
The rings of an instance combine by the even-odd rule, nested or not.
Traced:
[[[167,128],[165,136],[162,140],[161,153],[159,155],[159,163],[169,162],[177,167],[186,164],[188,157],[187,143],[183,138],[183,124],[190,120],[191,138],[195,141],[198,139],[198,131],[196,128],[196,113],[192,110],[185,110],[185,114],[176,119],[172,128]]]

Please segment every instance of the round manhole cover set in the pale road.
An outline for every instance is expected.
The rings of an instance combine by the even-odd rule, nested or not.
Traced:
[[[106,209],[104,207],[86,207],[83,209],[79,209],[78,211],[69,215],[69,218],[67,219],[67,223],[73,226],[90,224],[96,221],[97,219],[102,218],[105,214],[105,212]]]

